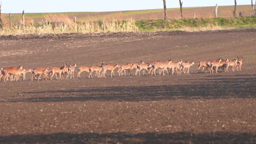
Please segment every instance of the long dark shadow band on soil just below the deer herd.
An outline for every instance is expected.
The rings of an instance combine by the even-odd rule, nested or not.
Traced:
[[[115,86],[19,93],[0,102],[149,101],[164,99],[256,98],[256,78],[195,80],[184,85]],[[25,98],[24,98],[25,97]]]

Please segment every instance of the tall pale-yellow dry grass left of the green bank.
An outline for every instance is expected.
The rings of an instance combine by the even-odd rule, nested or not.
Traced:
[[[134,32],[138,31],[133,19],[126,21],[96,21],[73,22],[68,16],[49,16],[42,22],[34,22],[33,19],[16,24],[4,24],[0,29],[0,35],[22,34],[59,34],[59,33],[94,33],[94,32]]]

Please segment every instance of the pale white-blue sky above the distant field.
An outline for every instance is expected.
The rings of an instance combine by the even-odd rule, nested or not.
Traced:
[[[0,0],[2,13],[41,12],[108,12],[122,10],[162,9],[162,0]],[[234,0],[182,0],[183,7],[228,6]],[[253,0],[254,1],[254,0]],[[251,0],[237,0],[237,5]],[[167,8],[180,7],[179,0],[166,0]]]

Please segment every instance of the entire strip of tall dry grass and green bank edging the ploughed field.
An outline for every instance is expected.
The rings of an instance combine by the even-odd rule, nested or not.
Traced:
[[[72,19],[65,18],[58,22],[26,22],[25,24],[5,24],[0,29],[0,35],[22,34],[55,34],[55,33],[95,33],[95,32],[136,32],[136,31],[198,31],[198,30],[222,30],[231,28],[256,27],[256,17],[237,18],[188,18],[169,19],[165,22],[159,20],[134,21],[86,21],[74,23]]]

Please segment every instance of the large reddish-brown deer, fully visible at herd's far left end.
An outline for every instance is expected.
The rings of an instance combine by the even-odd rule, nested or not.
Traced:
[[[21,64],[19,65],[19,67],[4,67],[2,69],[3,71],[3,77],[4,77],[4,82],[6,82],[8,80],[8,77],[10,76],[11,81],[13,74],[20,74],[20,72],[23,70],[23,67],[21,66]],[[20,75],[21,76],[21,75]],[[7,80],[5,80],[7,79]]]

